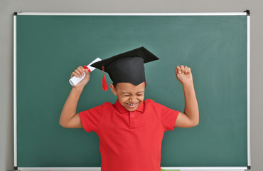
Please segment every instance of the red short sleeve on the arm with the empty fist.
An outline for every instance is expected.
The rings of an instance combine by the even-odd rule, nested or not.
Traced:
[[[154,106],[160,116],[164,131],[173,130],[176,125],[176,119],[179,115],[179,111],[167,108],[159,103],[154,103]]]

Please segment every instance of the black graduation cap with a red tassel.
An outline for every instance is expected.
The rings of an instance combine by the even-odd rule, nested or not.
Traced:
[[[120,53],[111,58],[93,63],[91,66],[103,71],[102,90],[107,90],[104,71],[113,83],[132,83],[135,86],[145,81],[144,63],[158,60],[144,46]]]

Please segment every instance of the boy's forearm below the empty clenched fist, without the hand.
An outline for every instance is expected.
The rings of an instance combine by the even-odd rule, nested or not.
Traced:
[[[183,93],[185,95],[185,110],[184,113],[193,121],[193,123],[199,123],[199,110],[198,102],[195,97],[195,89],[192,83],[183,84]]]

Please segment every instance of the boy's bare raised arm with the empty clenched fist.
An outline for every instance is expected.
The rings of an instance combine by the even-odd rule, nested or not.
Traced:
[[[193,87],[193,76],[190,68],[187,66],[177,66],[176,77],[183,85],[185,95],[185,110],[184,113],[179,113],[176,119],[175,127],[190,128],[199,123],[198,102],[195,97],[195,89]]]

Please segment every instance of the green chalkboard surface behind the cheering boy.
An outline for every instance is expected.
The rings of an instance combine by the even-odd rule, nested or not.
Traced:
[[[200,123],[163,136],[161,167],[247,167],[247,16],[16,16],[17,167],[100,167],[95,132],[59,125],[77,66],[144,46],[146,98],[184,110],[175,68],[189,66]],[[108,83],[110,78],[106,75]],[[115,103],[92,71],[77,112]]]

